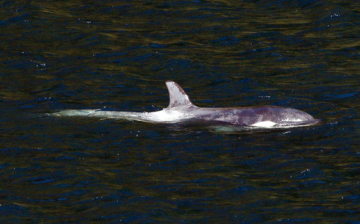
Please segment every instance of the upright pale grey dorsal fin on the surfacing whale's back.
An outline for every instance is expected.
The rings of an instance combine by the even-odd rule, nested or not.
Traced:
[[[188,94],[183,88],[174,81],[166,81],[167,90],[169,90],[170,103],[167,108],[172,108],[180,105],[188,105],[196,107],[189,99]]]

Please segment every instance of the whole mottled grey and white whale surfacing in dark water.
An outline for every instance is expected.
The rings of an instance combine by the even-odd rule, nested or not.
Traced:
[[[54,116],[87,116],[99,118],[122,118],[152,123],[177,123],[185,121],[214,121],[232,125],[256,127],[284,127],[309,125],[318,122],[306,112],[278,106],[258,107],[197,107],[183,88],[174,81],[166,81],[170,103],[156,112],[118,112],[100,109],[63,110]]]

